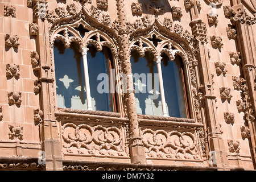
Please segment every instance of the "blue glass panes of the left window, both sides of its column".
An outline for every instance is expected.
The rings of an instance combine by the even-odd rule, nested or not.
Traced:
[[[112,52],[108,47],[97,51],[88,45],[87,64],[89,88],[85,84],[85,69],[79,44],[72,42],[65,48],[60,40],[55,40],[55,77],[58,108],[88,109],[86,90],[90,91],[93,110],[117,111],[114,95],[114,71]]]

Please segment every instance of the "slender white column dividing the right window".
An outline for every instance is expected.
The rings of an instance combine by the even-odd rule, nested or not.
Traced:
[[[161,60],[162,60],[161,56],[156,56],[156,65],[158,67],[158,77],[159,77],[159,86],[160,86],[163,116],[168,117],[167,110],[166,110],[166,96],[164,94],[164,86],[163,86],[163,75],[162,75],[162,68],[161,68]]]

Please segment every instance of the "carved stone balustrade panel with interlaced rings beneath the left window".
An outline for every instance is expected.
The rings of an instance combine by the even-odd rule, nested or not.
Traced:
[[[117,113],[65,109],[56,115],[64,156],[129,158],[128,120]]]

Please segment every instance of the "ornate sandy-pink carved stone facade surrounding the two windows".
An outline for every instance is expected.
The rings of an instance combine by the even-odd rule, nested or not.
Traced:
[[[255,7],[253,0],[0,0],[0,170],[255,169]],[[80,24],[96,39],[81,39]],[[127,77],[131,49],[181,56],[190,117],[138,115],[133,84],[117,94],[118,113],[58,109],[56,39],[109,47]]]

